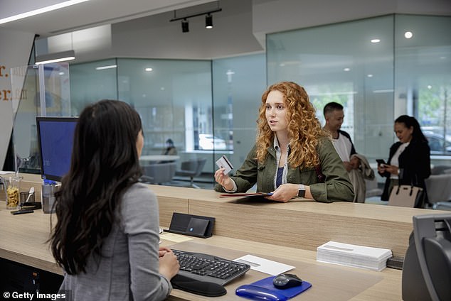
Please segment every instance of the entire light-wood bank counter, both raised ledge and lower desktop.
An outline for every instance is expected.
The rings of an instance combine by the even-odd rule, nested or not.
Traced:
[[[39,175],[23,175],[21,191],[35,187],[41,197]],[[295,266],[290,273],[312,283],[312,288],[292,300],[401,300],[402,271],[381,272],[316,261],[316,248],[327,241],[389,248],[404,256],[412,231],[412,217],[445,213],[429,209],[388,207],[348,202],[319,203],[293,199],[287,203],[259,199],[219,197],[213,190],[149,185],[159,200],[160,225],[169,228],[174,212],[214,217],[213,236],[189,237],[189,241],[164,239],[162,246],[184,251],[211,253],[228,259],[246,254]],[[0,195],[4,200],[4,195]],[[51,217],[36,210],[32,214],[10,214],[0,204],[0,257],[19,264],[62,275],[46,242]],[[215,300],[245,300],[235,295],[240,285],[269,275],[249,270],[226,285],[228,293]],[[173,290],[169,300],[211,300],[213,298]]]

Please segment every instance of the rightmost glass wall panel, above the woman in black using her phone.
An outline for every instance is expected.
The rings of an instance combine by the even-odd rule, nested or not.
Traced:
[[[415,116],[433,159],[451,155],[451,18],[395,19],[395,111]]]

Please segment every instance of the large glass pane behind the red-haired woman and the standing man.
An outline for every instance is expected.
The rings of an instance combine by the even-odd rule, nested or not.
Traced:
[[[393,16],[267,36],[268,82],[301,84],[317,108],[344,106],[344,131],[368,158],[393,143]]]

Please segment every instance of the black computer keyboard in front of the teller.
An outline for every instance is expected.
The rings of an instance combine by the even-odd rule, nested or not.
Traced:
[[[244,275],[250,269],[248,264],[229,261],[209,254],[172,251],[180,263],[179,275],[204,282],[225,285],[240,275]]]

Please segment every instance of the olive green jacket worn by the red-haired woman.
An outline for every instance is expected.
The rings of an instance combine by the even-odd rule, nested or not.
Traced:
[[[274,178],[277,169],[276,151],[268,148],[265,162],[255,160],[256,146],[248,153],[241,168],[235,176],[230,176],[238,188],[237,192],[247,192],[255,182],[257,192],[272,192],[275,190]],[[329,139],[322,139],[317,147],[324,183],[320,183],[315,168],[290,168],[288,164],[287,182],[309,185],[310,192],[318,202],[334,202],[354,200],[354,188],[349,181],[343,161],[336,153]],[[216,191],[225,192],[221,185],[216,185]]]

